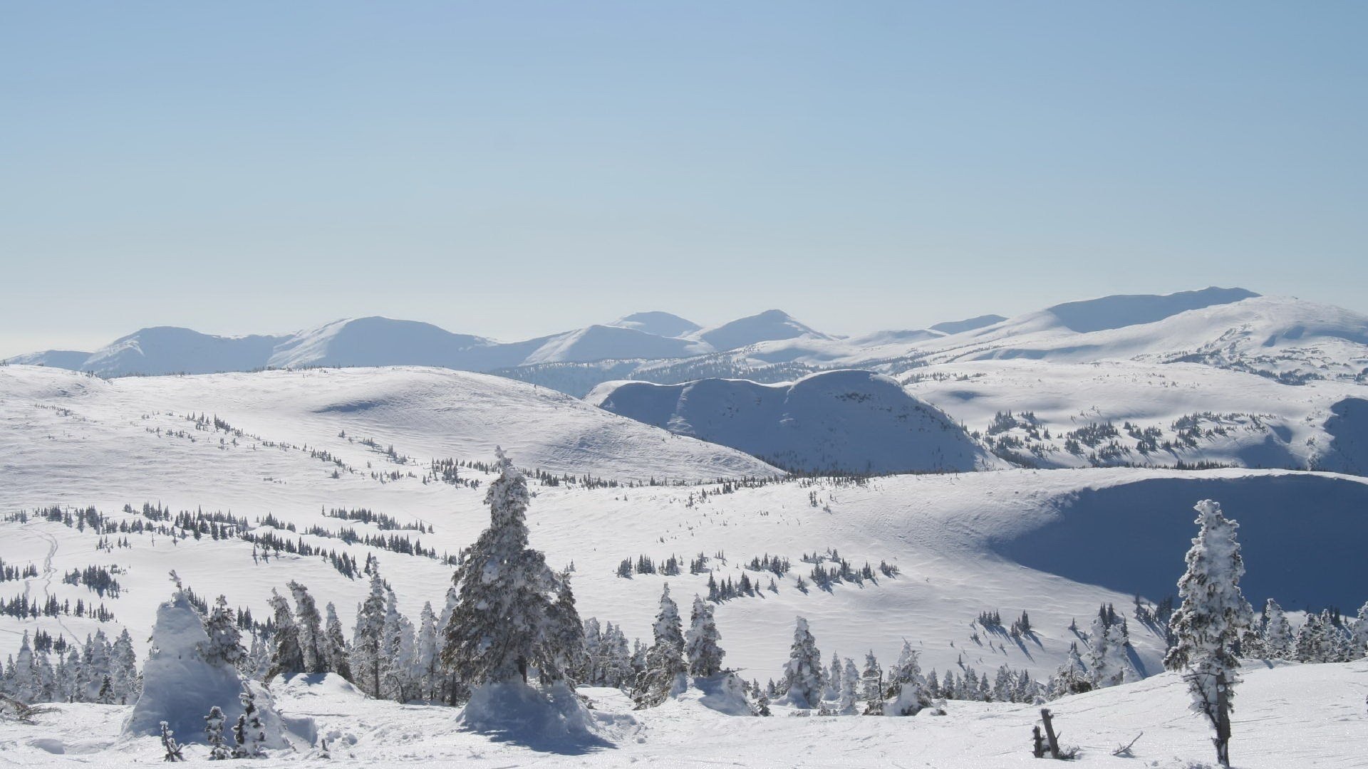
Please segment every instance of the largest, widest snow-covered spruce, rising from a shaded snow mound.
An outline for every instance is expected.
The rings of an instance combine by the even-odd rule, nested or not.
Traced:
[[[442,664],[472,690],[525,684],[536,670],[542,684],[564,681],[568,654],[555,647],[560,579],[546,557],[528,547],[528,490],[523,472],[502,452],[486,502],[490,527],[465,551],[453,576],[457,602],[443,628]],[[577,621],[577,620],[576,620]]]

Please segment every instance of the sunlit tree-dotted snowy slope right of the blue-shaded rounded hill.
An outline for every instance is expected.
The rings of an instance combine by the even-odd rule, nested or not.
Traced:
[[[1291,387],[1190,363],[1038,360],[948,363],[902,380],[1000,456],[1037,467],[1368,469],[1361,384]]]

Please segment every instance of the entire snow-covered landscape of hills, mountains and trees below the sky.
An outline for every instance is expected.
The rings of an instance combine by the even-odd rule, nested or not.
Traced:
[[[1238,289],[22,356],[0,764],[1363,766],[1365,379]]]

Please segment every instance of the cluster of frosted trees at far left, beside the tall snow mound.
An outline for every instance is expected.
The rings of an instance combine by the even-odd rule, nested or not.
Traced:
[[[19,702],[101,702],[122,705],[141,688],[137,654],[129,631],[109,642],[104,631],[88,635],[85,644],[52,640],[42,634],[30,640],[23,634],[18,657],[5,660],[0,694]]]

